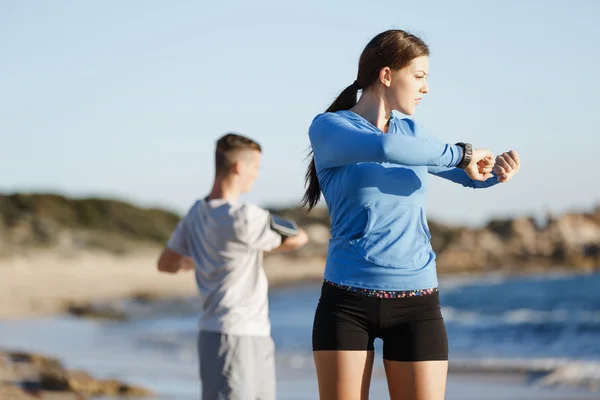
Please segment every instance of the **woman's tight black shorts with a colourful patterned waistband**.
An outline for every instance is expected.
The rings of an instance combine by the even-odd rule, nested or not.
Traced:
[[[313,351],[373,350],[383,341],[391,361],[448,360],[439,292],[377,298],[324,282],[313,324]]]

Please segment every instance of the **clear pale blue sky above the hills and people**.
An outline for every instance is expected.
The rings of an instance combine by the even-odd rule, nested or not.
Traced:
[[[294,205],[307,128],[377,33],[430,46],[415,119],[441,140],[519,151],[475,191],[432,177],[430,218],[600,204],[600,2],[0,0],[0,190],[117,197],[183,212],[210,189],[215,140],[264,148],[245,201]]]

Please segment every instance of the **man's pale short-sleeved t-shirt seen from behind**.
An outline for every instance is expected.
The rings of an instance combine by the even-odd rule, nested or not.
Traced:
[[[270,214],[256,205],[199,200],[179,221],[167,247],[194,259],[203,304],[200,329],[269,336],[263,252],[281,244]]]

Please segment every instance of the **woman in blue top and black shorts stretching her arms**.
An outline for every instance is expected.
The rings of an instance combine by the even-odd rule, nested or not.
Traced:
[[[364,49],[356,81],[309,128],[304,204],[323,192],[331,218],[313,354],[323,400],[367,399],[373,341],[383,340],[392,400],[444,398],[448,339],[425,216],[428,174],[467,187],[508,181],[511,151],[425,137],[409,118],[428,93],[429,50],[401,30]],[[357,102],[357,93],[362,90]]]

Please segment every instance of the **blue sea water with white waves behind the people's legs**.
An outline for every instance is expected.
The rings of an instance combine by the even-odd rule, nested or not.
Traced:
[[[278,398],[317,398],[310,346],[319,293],[318,282],[271,289]],[[454,276],[440,279],[440,296],[449,392],[458,385],[452,372],[518,372],[544,391],[539,398],[600,398],[591,391],[600,389],[600,273]],[[197,399],[198,300],[122,301],[118,307],[129,320],[61,315],[2,321],[0,347],[54,355],[68,367],[149,386],[161,399]],[[376,354],[371,395],[386,398],[379,341]],[[510,396],[504,398],[529,398]]]

